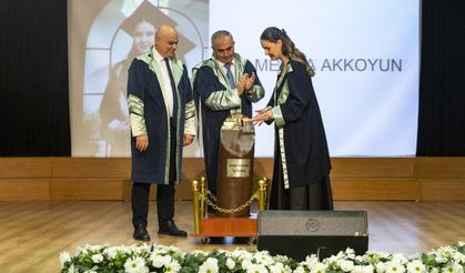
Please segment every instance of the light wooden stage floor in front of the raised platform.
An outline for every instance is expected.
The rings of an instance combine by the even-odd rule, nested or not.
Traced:
[[[255,245],[201,244],[199,239],[158,236],[155,203],[151,202],[152,242],[182,250],[212,250]],[[427,252],[465,241],[465,202],[338,201],[335,210],[368,214],[370,250]],[[176,224],[193,233],[192,203],[176,202]],[[131,203],[124,201],[0,202],[1,272],[59,272],[62,251],[109,243],[133,244]]]

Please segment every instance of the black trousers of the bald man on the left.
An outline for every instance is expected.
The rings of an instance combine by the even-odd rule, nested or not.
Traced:
[[[159,226],[172,221],[174,218],[174,181],[176,180],[176,130],[173,122],[170,122],[170,184],[156,184],[156,214]],[[150,145],[150,143],[149,143]],[[132,184],[132,224],[135,226],[148,225],[149,195],[151,183],[140,183],[134,181]]]

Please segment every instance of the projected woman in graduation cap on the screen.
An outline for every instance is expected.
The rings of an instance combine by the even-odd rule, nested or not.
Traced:
[[[176,23],[148,1],[128,17],[121,29],[132,37],[132,47],[127,58],[115,63],[111,71],[100,104],[101,136],[105,141],[105,156],[130,155],[130,123],[127,104],[128,69],[132,60],[150,50],[159,26]],[[195,44],[180,36],[180,59]]]

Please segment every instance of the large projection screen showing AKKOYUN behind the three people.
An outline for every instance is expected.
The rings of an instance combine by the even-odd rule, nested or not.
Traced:
[[[332,156],[415,154],[419,0],[69,0],[73,156],[129,156],[124,101],[129,60],[162,23],[180,32],[191,70],[210,58],[210,36],[232,32],[270,99],[280,63],[260,46],[266,27],[284,29],[316,74],[313,84]],[[256,156],[273,155],[273,127],[256,127]],[[202,156],[196,142],[184,156]]]

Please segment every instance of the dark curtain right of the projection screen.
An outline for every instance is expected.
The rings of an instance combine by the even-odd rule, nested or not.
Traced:
[[[465,155],[465,1],[424,0],[417,156]]]

